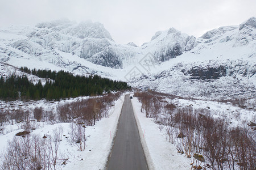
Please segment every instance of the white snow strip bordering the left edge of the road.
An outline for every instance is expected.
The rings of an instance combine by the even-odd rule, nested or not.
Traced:
[[[87,126],[86,136],[90,136],[86,141],[85,151],[73,152],[70,162],[63,169],[104,169],[108,161],[108,156],[113,145],[113,138],[117,131],[119,116],[121,113],[125,94],[115,101],[114,107],[110,110],[109,117],[102,118],[96,125]],[[82,160],[81,160],[82,159]]]

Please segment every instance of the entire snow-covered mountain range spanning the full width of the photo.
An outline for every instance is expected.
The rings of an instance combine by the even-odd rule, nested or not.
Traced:
[[[0,30],[0,61],[126,80],[179,96],[255,96],[256,19],[196,39],[170,28],[120,45],[100,23],[57,20]],[[132,73],[132,74],[131,74]]]

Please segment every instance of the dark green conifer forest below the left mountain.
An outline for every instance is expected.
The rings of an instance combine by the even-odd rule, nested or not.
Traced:
[[[34,84],[26,75],[11,75],[0,78],[0,99],[2,100],[59,100],[69,97],[102,95],[103,92],[119,91],[130,88],[126,82],[119,82],[102,78],[98,75],[82,76],[73,75],[67,71],[36,70],[21,67],[21,71],[33,74],[39,78],[47,78],[46,84],[41,80]]]

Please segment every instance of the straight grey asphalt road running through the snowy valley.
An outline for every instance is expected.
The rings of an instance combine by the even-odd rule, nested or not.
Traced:
[[[125,96],[117,135],[112,153],[109,156],[108,170],[147,169],[146,158],[141,145],[141,138],[139,137],[131,100],[129,95]]]

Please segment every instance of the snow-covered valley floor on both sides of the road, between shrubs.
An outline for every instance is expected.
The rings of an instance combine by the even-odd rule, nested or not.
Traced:
[[[126,93],[127,94],[127,93]],[[96,122],[94,126],[86,126],[85,150],[79,150],[79,144],[70,141],[71,123],[50,124],[50,122],[35,122],[35,130],[32,134],[50,137],[54,130],[62,127],[60,141],[60,154],[58,156],[58,168],[60,169],[104,169],[108,162],[108,156],[113,146],[113,138],[117,131],[119,116],[121,113],[125,95],[123,94],[114,105],[110,107],[109,117],[104,117]],[[133,96],[133,94],[131,94]],[[64,101],[60,101],[64,102]],[[65,102],[68,102],[65,101]],[[230,126],[245,126],[247,122],[255,122],[255,111],[234,107],[229,103],[218,103],[204,100],[184,100],[184,99],[164,99],[163,102],[175,104],[176,107],[192,107],[193,109],[209,109],[213,117],[220,117]],[[147,118],[142,112],[142,104],[137,97],[131,99],[134,109],[135,120],[141,137],[141,142],[146,156],[149,169],[190,169],[193,158],[186,158],[185,154],[177,152],[174,144],[169,142],[166,127],[157,124],[154,118]],[[6,105],[1,103],[2,107]],[[13,104],[9,104],[13,105]],[[22,105],[19,103],[18,105]],[[44,106],[45,103],[38,103]],[[56,108],[56,103],[51,103],[51,108]],[[26,107],[26,105],[24,106]],[[163,113],[164,114],[164,113]],[[7,143],[11,141],[15,134],[22,131],[22,126],[18,122],[12,125],[0,127],[0,150],[4,152]],[[21,138],[21,137],[20,137]],[[3,155],[3,154],[1,154]],[[0,164],[3,158],[0,156]]]

